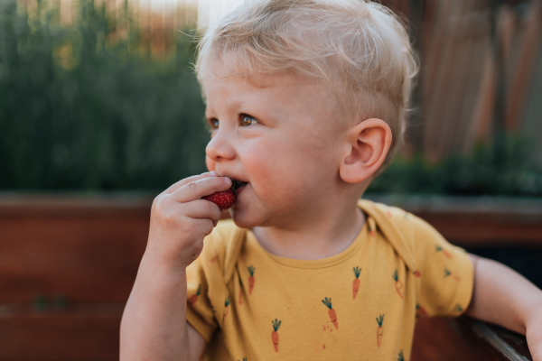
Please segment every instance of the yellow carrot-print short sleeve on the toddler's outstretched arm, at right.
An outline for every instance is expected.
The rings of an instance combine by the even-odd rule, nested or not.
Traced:
[[[416,309],[419,316],[456,317],[467,309],[474,281],[467,253],[448,243],[424,220],[408,215],[416,247]]]

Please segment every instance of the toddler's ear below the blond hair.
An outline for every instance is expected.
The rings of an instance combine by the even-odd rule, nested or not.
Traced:
[[[341,179],[348,183],[369,179],[386,159],[391,139],[391,129],[381,119],[370,118],[352,126],[339,168]]]

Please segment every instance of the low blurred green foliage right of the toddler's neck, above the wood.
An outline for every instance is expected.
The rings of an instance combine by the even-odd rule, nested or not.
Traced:
[[[470,156],[454,155],[435,164],[423,154],[397,157],[368,192],[540,197],[542,168],[533,142],[525,135],[496,136]]]

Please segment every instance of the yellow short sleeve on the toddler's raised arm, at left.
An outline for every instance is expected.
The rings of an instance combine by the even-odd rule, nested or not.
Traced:
[[[186,269],[186,320],[207,342],[215,329],[220,327],[216,315],[220,314],[220,304],[227,293],[222,277],[223,261],[220,230],[215,228],[203,240],[201,255]]]

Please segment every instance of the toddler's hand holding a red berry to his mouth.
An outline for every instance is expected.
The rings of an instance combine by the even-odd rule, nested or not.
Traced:
[[[220,220],[219,207],[201,197],[229,187],[229,178],[212,171],[179,180],[159,194],[151,208],[145,255],[182,270],[192,264],[201,253],[203,238]]]

